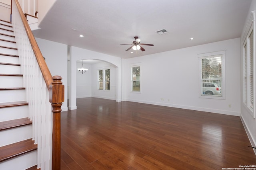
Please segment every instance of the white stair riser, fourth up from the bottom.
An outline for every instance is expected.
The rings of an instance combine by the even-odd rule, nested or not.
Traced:
[[[0,103],[25,101],[25,90],[0,90]]]

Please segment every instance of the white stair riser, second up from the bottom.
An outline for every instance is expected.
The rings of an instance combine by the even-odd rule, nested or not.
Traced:
[[[32,125],[0,131],[0,147],[32,138]]]

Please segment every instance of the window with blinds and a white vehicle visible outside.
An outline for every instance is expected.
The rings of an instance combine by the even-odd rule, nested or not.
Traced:
[[[225,51],[206,53],[199,57],[200,97],[224,99]]]

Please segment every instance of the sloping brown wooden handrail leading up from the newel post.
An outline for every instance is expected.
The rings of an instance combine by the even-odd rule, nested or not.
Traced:
[[[26,33],[28,34],[28,39],[36,56],[36,60],[42,72],[42,76],[44,77],[44,81],[46,82],[46,86],[48,90],[50,90],[50,84],[52,83],[52,74],[50,73],[50,70],[44,61],[44,57],[38,47],[38,44],[36,43],[36,39],[30,29],[30,26],[28,25],[28,21],[26,20],[26,17],[23,14],[22,8],[20,7],[20,3],[18,2],[18,0],[15,0],[15,3],[17,5],[18,12],[25,27]]]

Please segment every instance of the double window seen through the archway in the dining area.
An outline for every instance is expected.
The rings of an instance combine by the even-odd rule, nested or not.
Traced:
[[[110,69],[98,70],[98,89],[110,90]]]

